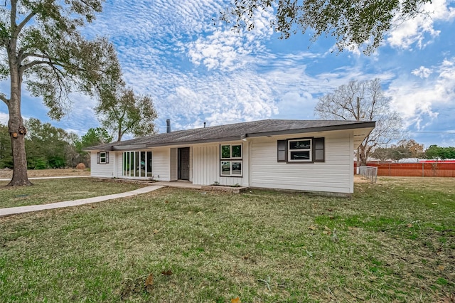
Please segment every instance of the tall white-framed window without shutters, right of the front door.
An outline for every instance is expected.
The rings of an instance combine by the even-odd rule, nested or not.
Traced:
[[[220,176],[242,176],[242,144],[220,146]]]

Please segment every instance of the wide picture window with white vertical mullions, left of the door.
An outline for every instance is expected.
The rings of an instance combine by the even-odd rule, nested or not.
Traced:
[[[151,151],[125,151],[122,166],[123,176],[151,178]]]

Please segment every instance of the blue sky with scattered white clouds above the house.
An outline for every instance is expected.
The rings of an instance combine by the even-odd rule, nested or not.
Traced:
[[[331,38],[280,40],[268,26],[271,11],[256,16],[253,31],[232,31],[213,21],[226,6],[223,0],[109,0],[84,31],[114,43],[127,84],[153,97],[159,132],[166,132],[166,119],[173,130],[315,119],[321,95],[350,80],[380,78],[408,137],[425,147],[455,146],[455,1],[433,0],[424,7],[429,16],[397,25],[370,56],[358,49],[338,53]],[[7,87],[0,83],[1,91]],[[23,90],[22,114],[80,135],[98,127],[96,101],[83,95],[73,101],[55,122],[41,99]],[[1,102],[0,122],[6,121]]]

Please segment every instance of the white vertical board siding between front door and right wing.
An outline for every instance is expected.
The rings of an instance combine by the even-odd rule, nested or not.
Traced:
[[[238,144],[239,142],[223,142],[223,144]],[[242,142],[243,143],[243,142]],[[242,149],[245,144],[242,144]],[[215,181],[221,185],[243,184],[242,177],[220,176],[220,144],[193,146],[193,184],[210,185]],[[245,176],[245,151],[242,151],[242,171]]]

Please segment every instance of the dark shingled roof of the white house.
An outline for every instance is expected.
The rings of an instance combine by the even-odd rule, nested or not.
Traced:
[[[218,125],[176,132],[153,134],[147,137],[87,147],[85,150],[127,150],[168,145],[223,142],[279,134],[322,132],[338,129],[375,127],[375,122],[338,120],[283,120],[267,119],[252,122]]]

